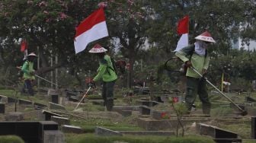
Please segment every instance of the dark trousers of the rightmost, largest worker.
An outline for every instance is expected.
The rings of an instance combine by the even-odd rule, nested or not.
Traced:
[[[204,114],[210,114],[210,100],[208,97],[208,91],[206,87],[206,80],[203,78],[191,78],[187,77],[187,92],[186,92],[186,106],[188,112],[190,112],[191,107],[196,100],[197,94],[202,102],[202,109]]]

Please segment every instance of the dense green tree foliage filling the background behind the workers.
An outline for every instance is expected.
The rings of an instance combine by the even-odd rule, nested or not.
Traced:
[[[98,42],[103,46],[120,49],[121,55],[129,59],[131,64],[129,76],[137,75],[133,74],[133,64],[134,69],[141,72],[139,70],[142,69],[136,67],[136,62],[142,60],[142,68],[152,65],[155,73],[158,72],[158,79],[169,83],[168,78],[161,78],[165,72],[162,72],[163,68],[159,62],[164,62],[173,54],[171,51],[175,49],[179,39],[176,33],[177,22],[185,14],[190,16],[190,43],[194,43],[194,37],[206,29],[217,41],[209,50],[214,51],[210,54],[210,81],[218,83],[222,71],[230,78],[244,78],[248,81],[256,78],[255,53],[231,50],[232,40],[235,42],[238,37],[242,37],[244,45],[248,46],[249,40],[255,40],[256,8],[252,1],[107,0],[105,14],[110,37],[89,44],[85,52],[75,55],[75,27],[98,8],[99,2],[101,1],[1,1],[0,84],[10,85],[18,80],[14,77],[17,73],[14,67],[21,65],[23,59],[23,53],[20,52],[21,39],[27,40],[29,52],[39,49],[40,74],[44,75],[54,68],[65,68],[59,70],[62,83],[66,83],[64,79],[67,71],[72,75],[67,79],[72,85],[82,85],[84,75],[87,77],[96,72],[97,58],[88,54],[87,50]],[[245,27],[241,28],[241,25]],[[50,66],[51,52],[53,56],[58,56],[58,65]],[[231,70],[226,71],[224,68],[229,65]],[[138,77],[139,74],[135,78]],[[132,78],[129,79],[130,82],[133,81]],[[171,81],[175,82],[175,79]]]

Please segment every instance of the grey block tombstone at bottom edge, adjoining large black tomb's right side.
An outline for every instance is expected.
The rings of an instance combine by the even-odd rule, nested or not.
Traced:
[[[63,143],[63,142],[65,142],[65,136],[59,130],[44,131],[43,132],[43,143],[49,143],[49,142]]]

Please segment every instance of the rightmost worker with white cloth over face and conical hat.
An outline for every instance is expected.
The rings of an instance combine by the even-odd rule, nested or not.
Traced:
[[[210,114],[211,103],[206,88],[206,80],[201,78],[191,67],[199,71],[201,75],[205,75],[210,62],[210,57],[206,49],[210,43],[216,42],[207,31],[200,34],[195,39],[196,42],[194,44],[180,49],[175,55],[187,66],[187,89],[185,96],[187,113],[190,113],[191,107],[198,94],[202,102],[203,114]]]

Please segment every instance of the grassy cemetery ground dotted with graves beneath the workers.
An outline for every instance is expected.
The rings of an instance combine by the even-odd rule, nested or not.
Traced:
[[[201,104],[197,99],[196,109],[190,115],[181,117],[184,137],[181,137],[181,126],[178,130],[176,128],[177,114],[169,102],[169,97],[178,97],[178,103],[182,103],[184,93],[155,91],[153,93],[155,100],[152,101],[149,94],[143,91],[132,97],[125,97],[125,90],[116,89],[114,110],[109,112],[103,106],[101,89],[96,88],[90,91],[88,98],[78,106],[77,110],[74,110],[84,93],[85,91],[40,89],[34,97],[30,97],[12,89],[2,89],[0,95],[1,103],[5,105],[5,113],[1,113],[0,121],[8,121],[7,116],[11,113],[22,114],[22,119],[16,119],[17,121],[41,121],[49,119],[46,116],[50,116],[49,120],[58,123],[59,130],[64,135],[64,142],[67,143],[221,142],[210,133],[205,135],[198,129],[198,125],[223,129],[223,134],[226,134],[225,138],[228,139],[230,139],[229,135],[238,135],[238,138],[232,138],[230,142],[256,142],[251,137],[251,116],[256,116],[254,101],[250,100],[256,99],[256,93],[253,92],[226,93],[235,103],[248,110],[247,116],[240,116],[238,110],[214,90],[209,92],[212,103],[210,116],[202,114]],[[53,99],[54,94],[58,94],[57,101]],[[158,100],[156,97],[159,97]],[[15,103],[11,99],[18,100]],[[58,116],[64,120],[59,120]],[[176,137],[177,131],[178,137]],[[1,138],[17,140],[18,137],[1,136],[0,142]]]

